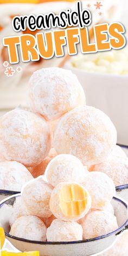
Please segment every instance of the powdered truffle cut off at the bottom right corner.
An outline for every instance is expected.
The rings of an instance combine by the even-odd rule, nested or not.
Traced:
[[[128,255],[128,231],[123,232],[116,243],[106,252],[101,253],[101,256],[126,256]]]

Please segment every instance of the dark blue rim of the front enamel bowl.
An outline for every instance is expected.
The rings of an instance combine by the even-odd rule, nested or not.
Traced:
[[[127,204],[122,201],[121,199],[117,198],[117,197],[113,197],[114,200],[120,202],[121,204],[123,204],[125,206],[125,208],[127,209]],[[5,204],[5,202],[7,202],[8,200],[4,201],[3,203],[0,204],[0,208],[3,206],[3,204]],[[114,230],[113,232],[110,232],[108,234],[105,235],[101,235],[101,236],[97,236],[96,238],[91,238],[91,239],[86,239],[86,240],[79,240],[79,241],[69,241],[69,242],[43,242],[43,241],[35,241],[35,240],[28,240],[28,239],[24,239],[24,238],[18,238],[16,236],[10,235],[9,233],[5,232],[5,235],[8,238],[14,239],[14,240],[18,240],[21,242],[28,242],[30,244],[37,244],[37,245],[67,245],[67,244],[82,244],[85,242],[92,242],[92,241],[97,241],[100,239],[104,239],[107,238],[110,235],[117,235],[118,233],[121,233],[121,231],[123,231],[126,226],[128,225],[128,219],[125,221],[125,223],[119,227],[118,229]]]

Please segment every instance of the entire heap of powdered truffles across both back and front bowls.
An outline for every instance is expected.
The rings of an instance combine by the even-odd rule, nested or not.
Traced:
[[[128,158],[110,118],[86,106],[78,79],[61,68],[36,71],[28,98],[30,111],[18,107],[0,119],[1,188],[27,182],[10,234],[74,241],[117,229],[111,200],[115,185],[128,183]]]

